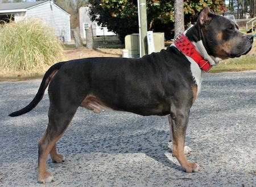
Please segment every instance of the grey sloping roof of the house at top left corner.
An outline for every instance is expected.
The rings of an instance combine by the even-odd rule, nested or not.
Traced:
[[[21,3],[0,3],[0,11],[2,10],[18,10],[27,9],[47,1],[36,1],[36,2],[21,2]]]

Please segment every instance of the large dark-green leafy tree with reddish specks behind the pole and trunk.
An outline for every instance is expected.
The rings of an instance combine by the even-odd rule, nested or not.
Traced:
[[[175,0],[147,0],[148,29],[164,31],[166,37],[174,37],[174,1]],[[184,0],[185,28],[195,23],[197,16],[205,6],[214,12],[223,10],[223,0]],[[119,35],[121,41],[130,33],[138,33],[137,0],[89,0],[91,4],[90,16],[98,24],[108,27]],[[161,30],[159,30],[161,29]]]

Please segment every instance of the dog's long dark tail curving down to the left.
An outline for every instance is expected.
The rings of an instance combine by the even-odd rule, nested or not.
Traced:
[[[51,66],[47,71],[46,74],[44,74],[43,80],[40,84],[38,93],[34,97],[34,99],[30,102],[30,104],[27,105],[27,107],[24,107],[23,109],[20,109],[19,111],[13,112],[9,114],[9,116],[20,116],[24,113],[30,112],[33,108],[38,105],[40,100],[43,99],[44,91],[46,90],[49,82],[51,81],[52,77],[55,75],[55,73],[60,69],[60,67],[63,65],[64,62],[56,63],[55,65]]]

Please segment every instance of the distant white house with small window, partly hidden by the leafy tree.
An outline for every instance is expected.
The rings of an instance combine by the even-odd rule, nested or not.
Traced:
[[[79,8],[79,22],[80,22],[80,35],[82,38],[86,38],[85,29],[92,26],[93,36],[113,36],[114,32],[111,32],[106,27],[101,27],[97,22],[92,22],[89,16],[90,6],[84,6]]]

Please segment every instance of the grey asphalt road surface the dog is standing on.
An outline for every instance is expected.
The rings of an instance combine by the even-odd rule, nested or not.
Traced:
[[[184,173],[171,156],[167,117],[79,108],[57,150],[67,160],[47,167],[55,181],[38,184],[38,141],[47,128],[48,95],[26,106],[40,80],[0,83],[0,186],[256,186],[256,71],[206,74],[191,109]]]

